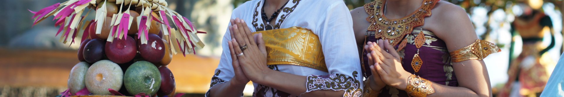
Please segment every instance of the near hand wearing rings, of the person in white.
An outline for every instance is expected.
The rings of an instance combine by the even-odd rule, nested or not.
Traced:
[[[242,19],[235,19],[230,27],[232,45],[245,76],[254,82],[262,81],[270,70],[266,65],[266,47],[262,34],[253,36]],[[255,42],[256,41],[256,42]],[[246,49],[244,48],[246,46]]]

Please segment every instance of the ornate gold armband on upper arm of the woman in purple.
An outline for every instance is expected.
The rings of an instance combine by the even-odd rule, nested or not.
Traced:
[[[486,56],[500,51],[501,49],[497,48],[497,46],[493,45],[493,43],[477,39],[474,43],[466,47],[450,51],[450,54],[452,61],[456,63],[474,59],[482,60],[486,58]]]

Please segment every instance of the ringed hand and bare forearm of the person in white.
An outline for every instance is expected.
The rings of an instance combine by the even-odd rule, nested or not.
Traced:
[[[248,30],[248,27],[246,27],[245,22],[238,19],[236,19],[235,22],[236,25],[230,27],[233,34],[235,34],[233,37],[235,40],[229,43],[230,50],[235,51],[231,53],[231,56],[240,59],[239,62],[243,65],[242,69],[249,80],[298,96],[343,96],[345,93],[343,90],[315,90],[307,92],[308,86],[306,83],[310,76],[298,76],[265,67],[266,48],[262,40],[262,34],[255,34],[254,38],[249,37],[253,35]],[[254,39],[257,39],[257,42],[255,42]],[[244,55],[236,56],[235,54],[243,53],[243,51],[240,50],[241,45],[248,46],[248,49],[245,50]],[[330,65],[328,65],[328,68],[331,68],[329,66]]]

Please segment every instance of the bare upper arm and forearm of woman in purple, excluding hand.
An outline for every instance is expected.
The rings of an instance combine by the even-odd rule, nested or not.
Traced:
[[[433,30],[446,42],[449,51],[461,49],[478,39],[466,12],[459,6],[441,2],[437,14],[440,29]],[[492,96],[490,77],[483,60],[452,63],[459,87],[433,84],[435,94],[430,96]]]

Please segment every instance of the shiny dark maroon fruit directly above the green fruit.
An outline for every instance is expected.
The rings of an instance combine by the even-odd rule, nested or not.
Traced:
[[[165,43],[157,34],[148,34],[149,39],[146,44],[142,44],[140,39],[137,42],[139,54],[146,61],[153,64],[158,63],[165,56]],[[143,38],[143,37],[142,37]]]

